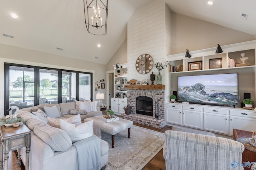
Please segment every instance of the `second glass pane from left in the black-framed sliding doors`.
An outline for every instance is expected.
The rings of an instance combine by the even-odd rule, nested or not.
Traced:
[[[58,103],[58,70],[39,69],[39,104]]]

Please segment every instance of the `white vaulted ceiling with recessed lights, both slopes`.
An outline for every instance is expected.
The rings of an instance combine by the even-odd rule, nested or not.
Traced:
[[[86,30],[83,0],[2,0],[0,43],[106,64],[126,39],[130,16],[152,1],[109,0],[107,35],[99,36]],[[172,12],[256,35],[255,0],[212,0],[212,6],[207,0],[159,1]],[[247,20],[240,18],[242,13],[248,14]]]

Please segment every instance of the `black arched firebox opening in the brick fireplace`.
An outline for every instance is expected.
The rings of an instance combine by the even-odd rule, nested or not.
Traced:
[[[141,115],[153,116],[153,99],[147,96],[137,97],[136,113]]]

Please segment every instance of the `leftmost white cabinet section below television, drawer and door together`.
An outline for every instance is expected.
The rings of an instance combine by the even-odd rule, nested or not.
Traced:
[[[166,104],[166,122],[182,125],[182,105]]]

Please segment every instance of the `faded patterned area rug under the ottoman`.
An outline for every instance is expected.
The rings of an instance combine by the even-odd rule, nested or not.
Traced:
[[[114,148],[110,134],[102,132],[101,139],[109,146],[106,170],[140,170],[163,148],[165,135],[133,125],[130,139],[127,129],[115,135]]]

